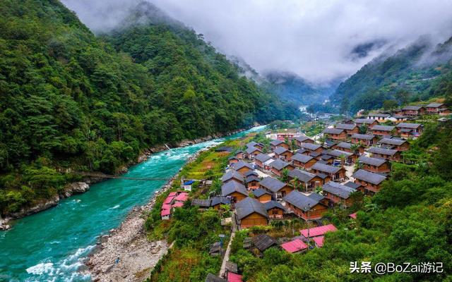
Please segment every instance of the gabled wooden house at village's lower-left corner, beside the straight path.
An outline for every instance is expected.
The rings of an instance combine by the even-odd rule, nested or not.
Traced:
[[[268,225],[268,213],[264,204],[250,197],[235,205],[235,215],[240,228]]]

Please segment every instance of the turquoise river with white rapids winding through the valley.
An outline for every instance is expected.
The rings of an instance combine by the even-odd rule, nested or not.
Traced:
[[[153,154],[124,176],[171,178],[198,150],[263,128]],[[146,204],[163,184],[164,180],[105,180],[57,207],[19,219],[10,231],[0,231],[0,281],[90,281],[77,270],[99,236],[117,228],[134,206]]]

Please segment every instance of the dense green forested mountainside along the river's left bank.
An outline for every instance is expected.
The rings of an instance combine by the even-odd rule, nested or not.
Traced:
[[[0,2],[1,215],[57,195],[66,172],[297,112],[186,27],[95,36],[57,0]]]

